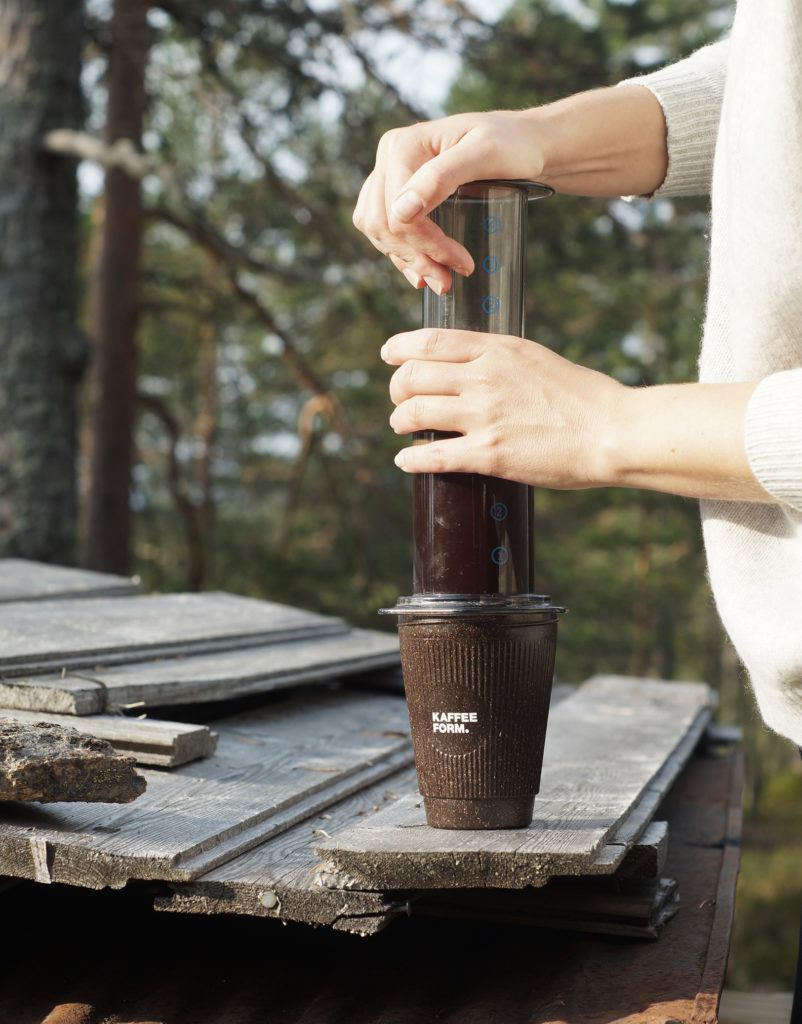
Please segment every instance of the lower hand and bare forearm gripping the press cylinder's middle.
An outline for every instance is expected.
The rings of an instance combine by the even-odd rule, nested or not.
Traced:
[[[404,449],[408,473],[480,473],[541,487],[646,487],[771,502],[744,441],[755,381],[626,387],[543,345],[426,329],[382,358],[398,434],[459,434]]]

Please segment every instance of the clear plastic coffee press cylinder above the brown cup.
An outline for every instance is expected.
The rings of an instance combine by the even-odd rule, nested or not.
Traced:
[[[469,278],[454,273],[445,295],[425,290],[424,327],[524,336],[526,205],[550,194],[526,182],[472,182],[433,211],[475,269]],[[414,440],[448,436],[421,431]],[[531,487],[476,474],[416,474],[413,496],[416,594],[534,592]]]

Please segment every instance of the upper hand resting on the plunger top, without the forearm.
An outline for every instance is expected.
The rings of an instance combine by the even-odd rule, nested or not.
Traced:
[[[457,114],[388,131],[360,193],[353,223],[415,288],[448,291],[451,271],[467,276],[473,260],[427,214],[467,181],[537,180],[544,161],[534,114]]]

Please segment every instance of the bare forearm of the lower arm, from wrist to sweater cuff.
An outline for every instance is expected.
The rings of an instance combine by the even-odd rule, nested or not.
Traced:
[[[771,502],[744,442],[756,382],[626,388],[600,432],[599,476],[609,486],[688,498]]]

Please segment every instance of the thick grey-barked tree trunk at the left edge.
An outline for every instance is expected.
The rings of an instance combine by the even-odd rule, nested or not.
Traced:
[[[69,563],[76,535],[80,0],[0,5],[0,554]]]

